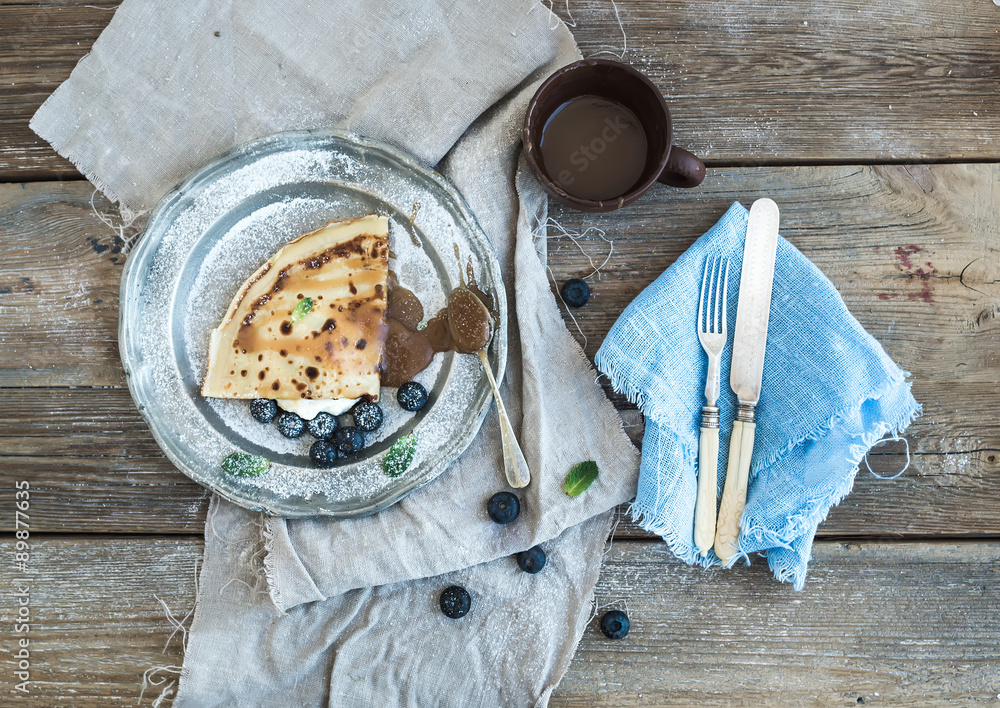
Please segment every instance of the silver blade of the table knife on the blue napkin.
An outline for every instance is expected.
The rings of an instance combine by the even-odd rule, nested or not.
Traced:
[[[744,404],[760,400],[774,257],[778,250],[778,218],[778,205],[770,199],[758,199],[750,206],[729,372],[729,385]]]

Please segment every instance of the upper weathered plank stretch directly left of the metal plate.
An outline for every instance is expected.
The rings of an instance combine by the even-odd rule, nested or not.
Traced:
[[[92,204],[89,182],[0,186],[0,386],[124,383],[125,259]]]

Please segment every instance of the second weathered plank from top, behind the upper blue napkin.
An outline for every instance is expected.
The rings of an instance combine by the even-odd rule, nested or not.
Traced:
[[[976,399],[997,383],[1000,364],[998,173],[995,165],[718,169],[698,190],[657,188],[621,212],[554,209],[565,227],[600,228],[615,244],[593,279],[592,304],[574,313],[587,352],[732,201],[766,194],[781,205],[783,233],[914,372],[918,393],[946,383],[971,387],[963,398]],[[8,259],[0,307],[19,315],[0,322],[0,385],[122,383],[113,360],[123,258],[117,235],[92,213],[92,197],[84,183],[0,186],[0,253]],[[107,209],[100,196],[95,203]],[[590,272],[568,237],[553,235],[550,246],[557,279]],[[580,248],[600,263],[609,247],[590,232]],[[64,342],[56,351],[41,346],[53,332]]]

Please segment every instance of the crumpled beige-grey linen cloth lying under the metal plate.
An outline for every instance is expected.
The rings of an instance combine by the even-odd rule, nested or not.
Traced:
[[[501,527],[485,513],[506,489],[494,414],[435,482],[369,518],[286,521],[214,497],[174,705],[547,703],[591,611],[609,510],[635,494],[638,471],[563,325],[544,267],[546,200],[519,168],[528,99],[578,57],[529,0],[125,0],[32,119],[136,212],[274,132],[393,143],[463,193],[513,304],[503,393],[533,473],[520,518]],[[597,482],[566,496],[566,473],[591,459]],[[548,563],[529,575],[511,554],[536,544]],[[437,607],[452,584],[473,598],[459,620]]]

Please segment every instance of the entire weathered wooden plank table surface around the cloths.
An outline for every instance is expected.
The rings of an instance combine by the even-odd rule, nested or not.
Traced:
[[[595,353],[625,305],[734,200],[774,198],[782,232],[913,373],[911,467],[862,471],[820,526],[802,592],[757,562],[703,571],[625,519],[597,589],[632,632],[592,622],[555,706],[986,705],[1000,700],[1000,6],[997,0],[573,0],[585,56],[647,72],[678,142],[709,164],[604,216],[614,244],[577,311]],[[0,705],[136,705],[182,660],[159,600],[194,597],[208,493],[163,457],[118,359],[122,235],[111,205],[28,119],[114,0],[0,0]],[[616,15],[620,16],[619,27]],[[627,43],[626,40],[627,39]],[[550,236],[562,280],[607,242]],[[585,252],[585,253],[584,253]],[[581,340],[582,341],[582,340]],[[641,416],[615,397],[629,430]],[[902,443],[870,457],[888,474]],[[31,486],[15,561],[15,485]],[[23,529],[22,529],[23,530]],[[23,534],[22,534],[23,535]],[[18,579],[31,694],[10,693]],[[148,705],[157,691],[147,691]]]

